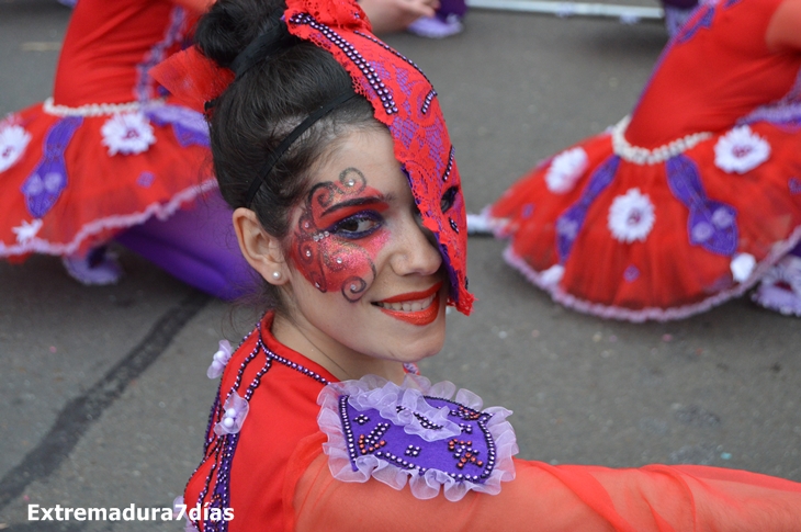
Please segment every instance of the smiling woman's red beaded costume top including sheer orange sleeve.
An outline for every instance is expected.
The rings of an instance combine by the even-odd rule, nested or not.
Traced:
[[[341,453],[340,459],[335,460],[337,451],[334,448],[338,443],[334,432],[348,431],[343,429],[346,423],[340,425],[336,416],[335,422],[330,422],[331,411],[319,414],[317,401],[326,403],[323,400],[326,395],[330,399],[336,386],[351,386],[353,389],[354,383],[358,385],[360,382],[336,384],[332,375],[323,367],[279,343],[270,333],[271,322],[272,317],[268,315],[246,337],[225,367],[219,394],[212,408],[204,457],[184,496],[189,508],[200,506],[206,509],[205,517],[193,521],[200,530],[789,532],[801,525],[801,485],[742,471],[704,466],[653,465],[638,469],[609,469],[516,460],[515,473],[505,473],[497,495],[467,490],[454,497],[448,489],[437,495],[439,486],[436,486],[426,499],[420,498],[420,490],[425,490],[426,486],[418,483],[414,488],[397,489],[405,484],[405,478],[398,484],[392,475],[382,476],[377,469],[372,472],[372,476],[368,473],[357,482],[352,478],[349,482],[337,479],[353,475],[347,459],[345,467],[340,468],[341,462],[339,465],[336,463]],[[320,395],[324,382],[335,384]],[[428,388],[433,397],[426,395],[426,401],[437,401],[436,397],[445,388],[442,385]],[[334,397],[336,410],[336,393]],[[379,403],[384,398],[380,397]],[[456,401],[471,403],[472,406],[460,405],[447,416],[441,414],[437,423],[443,426],[448,422],[445,418],[455,419],[460,421],[456,430],[463,432],[458,439],[481,443],[477,440],[482,435],[467,429],[469,422],[461,421],[478,420],[481,423],[482,415],[493,412],[498,416],[498,410],[503,409],[480,411],[481,406],[476,404],[480,405],[481,400],[469,393],[456,394]],[[405,399],[403,404],[408,406]],[[371,414],[366,407],[360,408],[362,414],[375,417],[375,411]],[[388,415],[382,410],[377,417],[387,421],[387,427],[392,425],[395,428],[397,420],[392,421],[391,418],[393,412],[400,410],[403,408],[393,404]],[[329,421],[325,420],[326,416]],[[226,418],[230,418],[230,422]],[[342,421],[346,419],[342,417]],[[430,412],[429,419],[435,419]],[[362,430],[368,430],[373,427],[370,423],[375,422],[375,419],[369,421],[366,415],[350,420],[356,420],[356,431],[361,425],[364,427]],[[381,425],[374,427],[380,428]],[[327,443],[320,428],[328,433]],[[418,428],[418,432],[422,430]],[[514,439],[509,441],[509,432],[507,430],[495,439],[498,456],[503,454],[500,448],[516,449]],[[386,429],[382,434],[380,439],[383,440],[379,442],[375,439],[379,444],[375,449],[364,450],[362,457],[380,456],[379,449],[392,449],[395,440],[411,438]],[[341,434],[339,439],[342,440]],[[359,441],[362,439],[359,438]],[[406,446],[405,443],[402,448]],[[450,441],[447,443],[450,444]],[[465,442],[460,441],[456,446],[459,443]],[[416,446],[409,445],[410,452],[404,457],[409,462],[422,460],[427,453],[436,452],[437,445],[437,441],[420,440]],[[495,456],[492,451],[487,454],[486,446],[476,455],[487,462],[493,460],[488,456]],[[441,460],[442,469],[448,469],[444,462],[449,460],[448,456]],[[512,462],[508,453],[506,459],[497,460],[499,466],[507,460],[504,467]],[[452,462],[458,464],[456,460]],[[385,467],[383,472],[392,467]],[[352,471],[356,469],[354,465]],[[415,469],[411,477],[418,474],[421,475],[421,472]],[[441,482],[436,478],[431,476],[427,480],[432,485]],[[410,485],[413,483],[414,479],[409,480]],[[395,489],[391,487],[393,485]],[[228,521],[221,518],[226,508],[233,509],[233,519]],[[218,510],[216,519],[212,518],[215,509]]]

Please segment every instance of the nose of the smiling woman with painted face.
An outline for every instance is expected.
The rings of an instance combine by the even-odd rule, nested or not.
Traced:
[[[419,220],[409,215],[405,219],[393,253],[391,265],[398,275],[433,275],[442,265],[437,239]]]

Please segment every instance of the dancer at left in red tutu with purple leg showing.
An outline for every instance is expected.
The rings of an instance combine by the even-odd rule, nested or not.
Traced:
[[[210,0],[81,0],[53,98],[0,121],[0,258],[61,256],[114,283],[113,238],[224,298],[252,285],[211,174],[203,116],[148,75],[185,46]]]

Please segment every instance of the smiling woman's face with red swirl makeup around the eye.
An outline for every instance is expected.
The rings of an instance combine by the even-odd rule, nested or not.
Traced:
[[[348,134],[323,158],[292,216],[286,249],[294,325],[340,361],[414,362],[436,354],[444,341],[449,286],[432,242],[390,133]]]

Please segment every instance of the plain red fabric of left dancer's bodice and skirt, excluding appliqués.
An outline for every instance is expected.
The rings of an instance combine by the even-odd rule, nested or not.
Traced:
[[[81,0],[67,29],[54,103],[75,107],[158,97],[147,70],[184,44],[193,20],[163,0]],[[168,98],[167,103],[174,101]],[[190,207],[216,186],[207,139],[184,146],[171,124],[150,121],[155,143],[145,151],[111,155],[101,134],[111,117],[84,116],[66,149],[57,150],[64,156],[66,188],[44,214],[30,210],[23,188],[43,160],[48,133],[63,117],[37,104],[0,123],[0,132],[13,124],[30,136],[21,157],[0,171],[0,257],[82,254],[126,227]],[[20,227],[32,224],[41,224],[35,237],[20,239]]]

